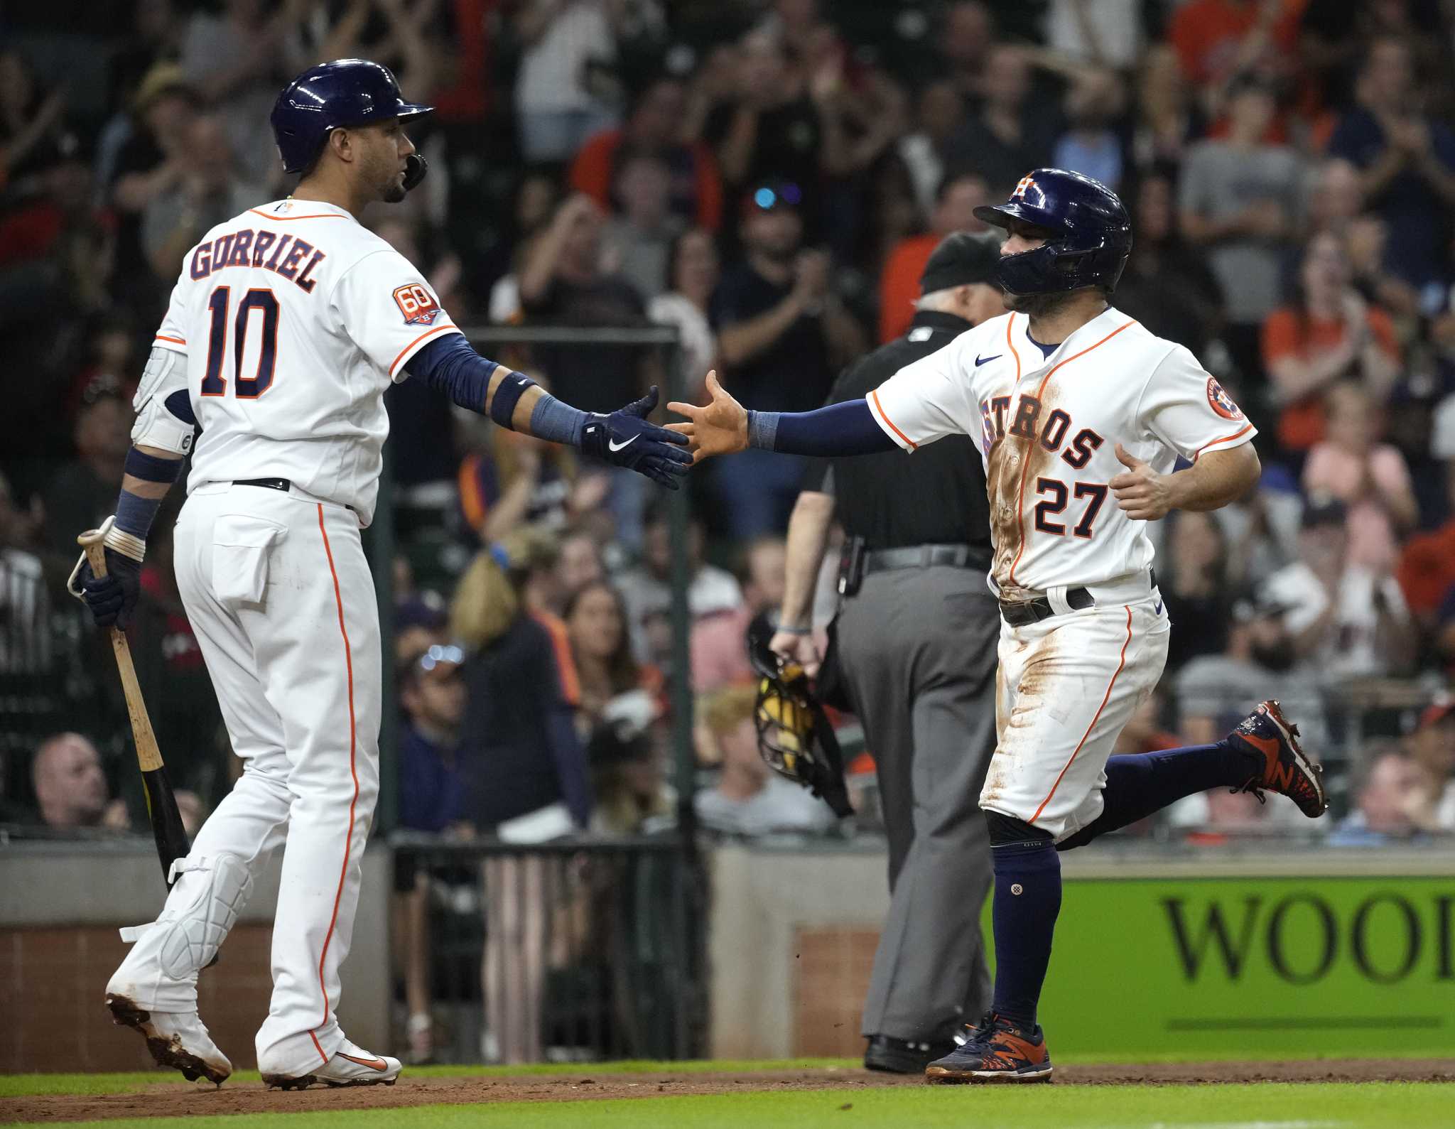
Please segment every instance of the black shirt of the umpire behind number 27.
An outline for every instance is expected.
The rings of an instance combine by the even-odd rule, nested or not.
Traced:
[[[943,349],[970,329],[954,314],[921,310],[909,332],[844,370],[828,403],[858,400],[921,356]],[[832,484],[824,476],[832,467]],[[838,500],[844,532],[869,548],[920,544],[968,544],[991,551],[989,503],[981,452],[968,435],[949,435],[912,455],[821,460],[805,489],[828,489]]]

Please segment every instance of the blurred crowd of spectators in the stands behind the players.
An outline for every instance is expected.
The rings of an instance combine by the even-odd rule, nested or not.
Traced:
[[[1200,358],[1264,464],[1228,509],[1154,530],[1173,650],[1122,751],[1215,739],[1272,693],[1330,764],[1334,818],[1308,834],[1455,829],[1451,0],[6,4],[6,826],[146,829],[109,661],[63,591],[74,537],[113,506],[186,250],[287,194],[272,100],[345,55],[438,106],[415,137],[429,179],[368,223],[461,326],[678,330],[677,351],[485,346],[589,409],[669,378],[691,394],[709,367],[749,406],[815,407],[906,329],[930,250],[981,230],[975,205],[1042,164],[1116,188],[1135,246],[1115,304]],[[662,500],[412,383],[388,406],[397,826],[669,826]],[[723,834],[832,822],[758,758],[744,650],[781,598],[803,471],[744,452],[691,484],[678,674],[698,703],[695,812]],[[236,768],[170,525],[132,646],[196,819]],[[825,576],[821,627],[831,614]],[[872,752],[840,834],[873,828]],[[1144,831],[1283,831],[1282,807],[1199,796]]]

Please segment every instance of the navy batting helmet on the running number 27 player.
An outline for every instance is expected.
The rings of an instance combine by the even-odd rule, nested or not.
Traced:
[[[1045,246],[1036,250],[1001,256],[995,281],[1010,294],[1053,294],[1083,287],[1112,291],[1132,253],[1132,220],[1116,192],[1065,169],[1027,173],[1008,201],[981,205],[975,218],[997,227],[1020,220],[1049,233]]]

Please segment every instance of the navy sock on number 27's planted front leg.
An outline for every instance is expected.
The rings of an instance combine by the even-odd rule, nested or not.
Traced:
[[[1051,937],[1061,912],[1061,858],[1051,839],[992,847],[995,895],[994,1011],[1029,1032],[1051,963]]]

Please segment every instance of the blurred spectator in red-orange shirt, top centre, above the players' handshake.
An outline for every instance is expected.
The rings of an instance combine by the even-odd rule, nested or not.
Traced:
[[[570,186],[602,210],[630,207],[629,186],[618,180],[631,156],[656,157],[668,169],[668,205],[684,224],[716,231],[722,223],[723,186],[717,160],[701,141],[684,141],[687,90],[679,79],[658,76],[633,102],[626,125],[591,137],[570,166]]]

